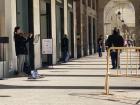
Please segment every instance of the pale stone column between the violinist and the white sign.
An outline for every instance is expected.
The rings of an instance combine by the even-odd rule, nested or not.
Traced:
[[[33,0],[33,17],[34,17],[34,37],[40,35],[40,7],[39,0]],[[41,67],[40,39],[34,44],[35,68]]]

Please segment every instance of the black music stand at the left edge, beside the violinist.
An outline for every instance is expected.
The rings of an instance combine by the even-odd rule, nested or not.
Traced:
[[[0,44],[2,44],[2,49],[3,49],[3,59],[2,59],[2,62],[3,62],[3,78],[0,78],[0,80],[3,80],[4,79],[4,44],[6,43],[9,43],[9,38],[8,37],[0,37]]]

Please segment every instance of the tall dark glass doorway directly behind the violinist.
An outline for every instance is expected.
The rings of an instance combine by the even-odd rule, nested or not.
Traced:
[[[17,0],[17,26],[20,26],[23,32],[33,33],[33,0]],[[33,39],[27,44],[28,56],[27,62],[34,69],[34,44]]]

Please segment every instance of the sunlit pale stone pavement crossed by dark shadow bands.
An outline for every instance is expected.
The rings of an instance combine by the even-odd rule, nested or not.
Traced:
[[[0,105],[135,105],[140,100],[139,77],[111,77],[111,95],[104,95],[105,54],[102,58],[94,55],[73,60],[39,73],[45,77],[0,81]]]

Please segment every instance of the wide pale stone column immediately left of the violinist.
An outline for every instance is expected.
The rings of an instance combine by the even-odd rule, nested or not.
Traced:
[[[5,1],[5,30],[4,35],[9,36],[8,55],[9,68],[15,70],[17,66],[15,43],[14,43],[14,28],[16,26],[16,0],[4,0]]]

